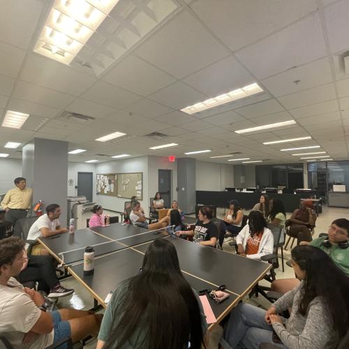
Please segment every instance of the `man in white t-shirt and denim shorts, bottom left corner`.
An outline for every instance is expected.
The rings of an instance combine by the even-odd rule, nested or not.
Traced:
[[[102,315],[74,309],[40,310],[44,304],[40,293],[24,288],[14,278],[25,262],[23,249],[24,242],[18,237],[0,242],[0,334],[15,349],[46,348],[66,337],[74,343],[98,334]]]

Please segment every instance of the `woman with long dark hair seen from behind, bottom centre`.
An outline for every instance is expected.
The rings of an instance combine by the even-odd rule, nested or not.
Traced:
[[[205,315],[200,299],[179,268],[168,239],[156,239],[142,271],[121,283],[107,306],[97,348],[200,349]]]

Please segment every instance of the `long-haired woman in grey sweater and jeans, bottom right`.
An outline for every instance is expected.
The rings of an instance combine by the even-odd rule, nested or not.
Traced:
[[[296,246],[291,262],[301,283],[267,311],[240,303],[223,331],[224,348],[258,349],[263,342],[288,349],[336,348],[349,328],[349,279],[320,248]],[[287,309],[290,318],[278,315]]]

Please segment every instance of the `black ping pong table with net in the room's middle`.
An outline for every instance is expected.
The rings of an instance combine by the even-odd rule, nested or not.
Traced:
[[[188,242],[175,235],[164,235],[162,230],[151,231],[125,223],[40,237],[38,242],[89,290],[95,305],[106,307],[107,294],[121,281],[138,274],[144,253],[154,239],[170,239],[177,250],[184,277],[198,292],[226,286],[225,292],[230,297],[221,304],[207,297],[217,320],[209,325],[209,329],[225,318],[271,267],[265,262]],[[83,267],[87,246],[94,246],[95,250],[94,274],[89,276],[84,275]]]

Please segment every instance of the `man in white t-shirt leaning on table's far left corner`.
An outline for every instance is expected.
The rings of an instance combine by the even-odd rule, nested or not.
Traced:
[[[40,216],[31,225],[28,233],[28,240],[37,240],[38,237],[51,237],[52,235],[68,232],[68,228],[61,228],[59,223],[61,207],[57,204],[50,204],[46,207],[46,214]],[[32,255],[49,255],[50,253],[40,244],[36,244],[31,249]]]

